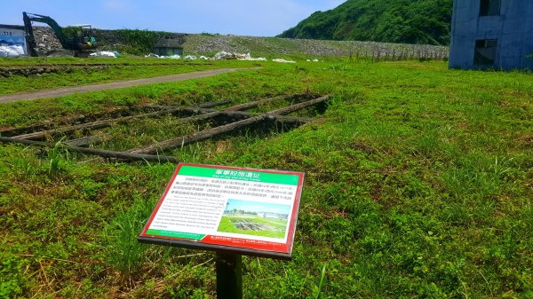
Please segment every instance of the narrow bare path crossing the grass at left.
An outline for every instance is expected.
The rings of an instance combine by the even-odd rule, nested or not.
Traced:
[[[184,81],[190,79],[199,79],[211,77],[213,75],[226,74],[230,72],[254,69],[254,68],[219,68],[219,69],[210,69],[207,71],[185,73],[178,75],[163,75],[159,77],[128,80],[128,81],[118,81],[114,83],[102,83],[102,84],[93,84],[93,85],[83,85],[83,86],[74,86],[60,88],[57,90],[40,90],[36,92],[24,92],[24,93],[14,93],[8,95],[0,95],[0,104],[1,103],[12,103],[19,100],[33,100],[37,98],[56,98],[60,96],[65,96],[73,93],[80,93],[86,91],[98,91],[98,90],[114,90],[118,88],[147,85],[153,83],[166,83],[166,82],[176,82]]]

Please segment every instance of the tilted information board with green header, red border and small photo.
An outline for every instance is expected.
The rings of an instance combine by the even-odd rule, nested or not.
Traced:
[[[290,259],[304,173],[179,163],[138,240]]]

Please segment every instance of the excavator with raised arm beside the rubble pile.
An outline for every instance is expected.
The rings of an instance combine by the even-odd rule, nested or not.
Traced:
[[[48,16],[22,12],[22,19],[24,20],[24,28],[26,29],[26,40],[28,42],[30,56],[38,56],[36,51],[36,39],[31,25],[32,22],[49,25],[60,40],[63,49],[74,51],[75,56],[87,56],[88,53],[97,48],[96,40],[94,39],[94,36],[92,36],[91,25],[77,25],[76,36],[67,37],[58,22]]]

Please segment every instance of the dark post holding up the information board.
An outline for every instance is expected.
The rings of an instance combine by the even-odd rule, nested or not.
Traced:
[[[243,258],[217,253],[217,298],[243,299]]]

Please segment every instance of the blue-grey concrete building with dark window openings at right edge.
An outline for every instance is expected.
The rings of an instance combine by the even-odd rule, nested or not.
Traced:
[[[533,70],[533,1],[455,0],[449,67]]]

